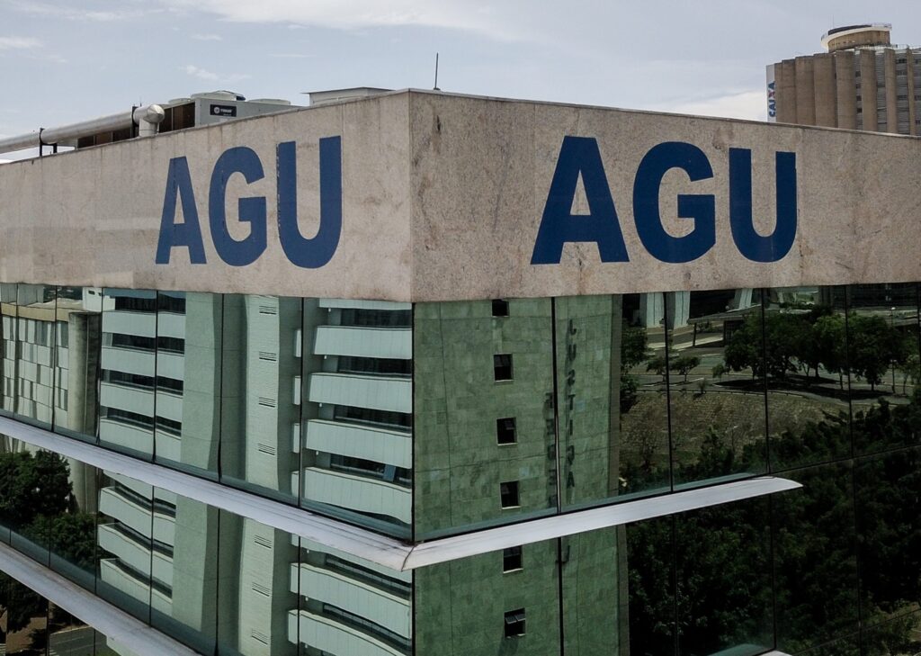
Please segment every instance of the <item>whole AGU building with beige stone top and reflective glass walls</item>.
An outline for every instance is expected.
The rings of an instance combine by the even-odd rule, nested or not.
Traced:
[[[0,644],[916,653],[916,148],[402,91],[0,166]]]

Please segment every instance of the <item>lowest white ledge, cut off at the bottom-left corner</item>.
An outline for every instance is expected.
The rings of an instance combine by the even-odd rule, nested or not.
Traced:
[[[0,543],[0,570],[137,656],[194,656],[197,651],[147,626],[71,580]]]

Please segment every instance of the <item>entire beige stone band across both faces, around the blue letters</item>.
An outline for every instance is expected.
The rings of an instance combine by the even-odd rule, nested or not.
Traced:
[[[784,88],[787,64],[779,68]],[[317,144],[330,135],[343,137],[342,237],[329,264],[298,268],[276,236],[274,148],[297,141],[300,229],[310,236],[319,205]],[[627,263],[603,264],[594,243],[573,243],[561,264],[530,264],[565,135],[598,141]],[[712,179],[689,182],[671,170],[663,180],[660,211],[676,236],[693,227],[677,217],[677,194],[715,195],[716,245],[687,264],[649,255],[633,217],[636,169],[649,148],[667,141],[699,147],[713,169]],[[249,230],[236,220],[237,199],[264,196],[268,206],[268,248],[243,267],[217,258],[207,226],[211,171],[231,146],[253,148],[265,170],[259,182],[246,185],[236,175],[228,186],[237,239]],[[774,229],[775,153],[797,154],[799,232],[780,262],[751,262],[733,243],[732,147],[752,150],[753,216],[762,234]],[[906,251],[921,238],[917,154],[908,137],[402,92],[2,165],[0,280],[393,300],[918,280],[921,264]],[[169,265],[157,265],[169,159],[182,156],[208,264],[189,264],[180,248]],[[576,205],[588,211],[578,195]]]

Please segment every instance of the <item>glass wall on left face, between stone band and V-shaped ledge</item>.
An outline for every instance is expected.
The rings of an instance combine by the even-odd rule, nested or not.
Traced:
[[[0,414],[408,538],[408,303],[3,285]]]

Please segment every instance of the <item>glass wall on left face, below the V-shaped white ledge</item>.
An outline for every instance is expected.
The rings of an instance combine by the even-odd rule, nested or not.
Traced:
[[[412,574],[5,439],[0,542],[192,650],[413,653]],[[7,653],[45,654],[77,624],[0,579]],[[79,640],[74,653],[92,654],[92,633]],[[102,644],[96,653],[132,653]]]

